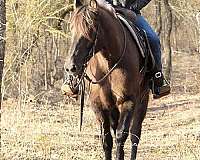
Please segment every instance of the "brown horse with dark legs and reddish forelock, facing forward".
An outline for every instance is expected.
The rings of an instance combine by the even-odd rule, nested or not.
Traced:
[[[138,47],[115,14],[94,0],[76,3],[71,32],[70,59],[65,64],[69,83],[63,85],[63,92],[75,95],[73,80],[86,78],[91,83],[91,106],[102,127],[105,159],[112,159],[113,129],[116,159],[124,159],[130,133],[131,160],[135,160],[149,99],[149,80],[140,72]]]

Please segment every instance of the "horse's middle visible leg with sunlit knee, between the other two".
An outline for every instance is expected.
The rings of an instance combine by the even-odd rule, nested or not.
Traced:
[[[120,117],[116,131],[116,160],[124,160],[124,144],[129,134],[130,122],[134,110],[134,102],[129,100],[119,105]]]

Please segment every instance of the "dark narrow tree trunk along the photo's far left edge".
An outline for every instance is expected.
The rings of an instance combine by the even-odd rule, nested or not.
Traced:
[[[0,87],[2,87],[3,66],[5,57],[6,1],[0,0]],[[0,108],[2,92],[0,91]]]

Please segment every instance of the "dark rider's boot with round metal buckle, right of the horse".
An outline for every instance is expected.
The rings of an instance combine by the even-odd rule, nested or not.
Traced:
[[[170,84],[169,82],[164,78],[164,75],[162,73],[161,69],[155,69],[153,78],[152,78],[152,93],[153,98],[158,99],[163,96],[166,96],[170,94]]]

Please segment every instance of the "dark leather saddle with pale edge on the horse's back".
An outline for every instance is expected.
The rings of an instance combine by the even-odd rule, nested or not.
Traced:
[[[122,22],[124,27],[128,29],[141,53],[141,72],[152,72],[155,67],[155,59],[152,54],[146,32],[139,29],[134,23],[137,15],[133,11],[126,8],[116,7],[115,10],[119,20]]]

